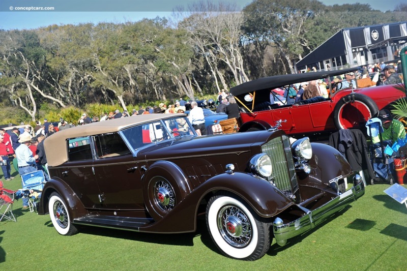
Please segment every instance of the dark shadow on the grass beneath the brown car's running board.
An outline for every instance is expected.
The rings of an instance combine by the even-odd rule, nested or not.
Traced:
[[[47,227],[52,227],[52,222],[47,221],[45,224]],[[202,228],[202,225],[205,228]],[[146,233],[146,232],[135,232],[120,229],[110,229],[102,227],[93,226],[82,226],[78,225],[79,233],[91,234],[98,236],[106,236],[112,238],[120,238],[127,240],[134,240],[144,243],[160,244],[160,245],[175,245],[175,246],[193,246],[193,238],[201,235],[202,232],[206,231],[205,221],[203,224],[198,220],[197,229],[195,232],[189,233],[173,233],[173,234],[161,234],[161,233]]]

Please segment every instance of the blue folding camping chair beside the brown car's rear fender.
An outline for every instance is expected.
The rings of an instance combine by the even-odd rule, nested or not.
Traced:
[[[41,192],[44,188],[45,177],[42,170],[37,170],[21,175],[21,184],[23,197],[28,198],[28,207],[33,213],[37,210],[37,204],[40,202]]]

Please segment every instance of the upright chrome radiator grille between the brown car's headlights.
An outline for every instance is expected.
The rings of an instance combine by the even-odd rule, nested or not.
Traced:
[[[293,155],[287,136],[273,138],[261,146],[261,151],[271,158],[273,173],[269,177],[276,187],[291,198],[298,190]]]

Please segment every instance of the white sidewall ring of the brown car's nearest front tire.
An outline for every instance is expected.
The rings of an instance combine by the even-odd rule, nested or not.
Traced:
[[[219,210],[225,205],[234,205],[242,210],[242,212],[249,219],[252,228],[252,238],[250,243],[244,248],[235,248],[229,245],[222,237],[217,226],[217,217]],[[250,257],[257,248],[258,243],[258,229],[256,220],[253,217],[250,210],[241,201],[229,197],[229,196],[218,196],[209,206],[207,214],[207,224],[212,239],[215,245],[226,255],[236,259],[244,259]]]

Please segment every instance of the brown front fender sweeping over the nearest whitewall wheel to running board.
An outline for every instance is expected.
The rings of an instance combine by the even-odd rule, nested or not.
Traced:
[[[243,198],[261,217],[271,218],[294,205],[267,180],[249,173],[223,173],[194,189],[160,221],[140,229],[147,232],[190,232],[196,229],[198,207],[207,195],[229,191]]]

